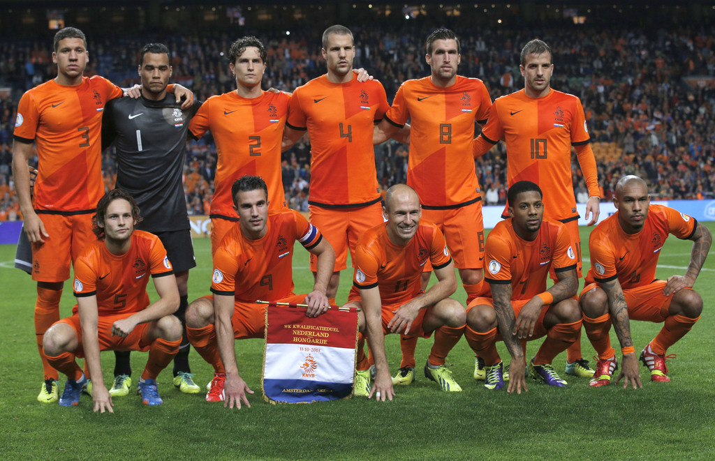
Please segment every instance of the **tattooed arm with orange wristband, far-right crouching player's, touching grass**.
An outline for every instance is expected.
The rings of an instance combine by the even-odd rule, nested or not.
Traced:
[[[631,322],[628,318],[628,305],[626,305],[626,298],[623,295],[621,283],[618,282],[618,278],[614,278],[608,282],[601,283],[601,288],[603,288],[603,291],[606,292],[606,296],[608,296],[608,312],[611,314],[613,330],[618,337],[618,343],[621,343],[621,349],[627,348],[628,346],[632,348]],[[623,354],[621,374],[618,375],[616,383],[618,383],[621,378],[623,378],[623,388],[628,386],[628,382],[631,383],[633,389],[643,387],[641,384],[641,375],[638,373],[638,358],[635,352]]]

